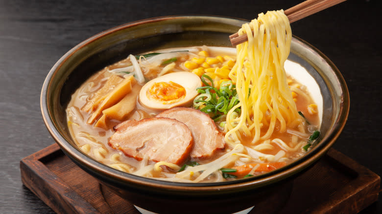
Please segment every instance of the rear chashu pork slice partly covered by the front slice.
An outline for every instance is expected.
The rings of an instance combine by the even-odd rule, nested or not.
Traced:
[[[157,117],[176,119],[186,124],[192,132],[194,146],[192,158],[208,158],[216,150],[224,149],[224,135],[215,125],[208,114],[188,107],[174,107],[163,111]]]

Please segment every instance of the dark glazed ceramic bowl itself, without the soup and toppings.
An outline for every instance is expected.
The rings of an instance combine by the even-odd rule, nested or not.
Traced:
[[[349,112],[349,92],[335,65],[309,43],[293,37],[289,60],[311,90],[321,118],[318,144],[279,170],[218,183],[176,183],[121,172],[79,150],[69,133],[66,107],[72,93],[106,65],[150,50],[195,45],[231,47],[228,36],[246,21],[213,16],[171,16],[135,21],[101,32],[68,51],[48,73],[41,92],[44,122],[79,167],[137,207],[155,213],[272,213],[287,201],[293,178],[334,144]],[[305,78],[305,79],[304,79]],[[305,82],[307,81],[307,82]],[[73,178],[75,179],[75,178]],[[141,210],[142,211],[142,210]]]

